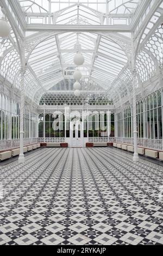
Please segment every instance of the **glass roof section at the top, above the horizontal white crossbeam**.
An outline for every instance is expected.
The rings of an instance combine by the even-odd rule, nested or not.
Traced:
[[[19,0],[28,24],[129,25],[141,0]]]

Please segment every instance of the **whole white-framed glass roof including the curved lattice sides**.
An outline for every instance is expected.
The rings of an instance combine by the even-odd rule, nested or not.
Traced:
[[[15,0],[16,2],[18,0]],[[73,25],[78,26],[131,26],[134,14],[137,16],[142,0],[20,0],[17,5],[18,13],[24,17],[27,28],[30,25]],[[10,3],[10,1],[7,1]],[[151,10],[155,0],[146,4],[142,10],[142,21],[145,21],[148,10]],[[9,7],[9,5],[8,5]],[[15,14],[15,9],[11,8]],[[22,11],[21,11],[22,10]],[[153,16],[146,24],[140,48],[137,52],[136,70],[138,84],[145,83],[162,67],[162,25],[161,14],[163,5],[153,12]],[[1,12],[0,12],[0,15]],[[137,17],[136,16],[136,17]],[[15,16],[13,16],[15,17]],[[23,27],[20,17],[16,16],[17,29]],[[140,19],[140,20],[141,20]],[[158,26],[155,24],[158,23]],[[141,26],[137,22],[137,26]],[[41,27],[40,26],[40,27]],[[136,27],[135,31],[139,29]],[[31,26],[32,27],[32,26]],[[51,26],[52,27],[52,26]],[[66,28],[66,26],[65,26]],[[22,29],[22,28],[21,28]],[[31,31],[30,31],[31,30]],[[134,31],[134,33],[135,33]],[[152,32],[151,32],[152,31]],[[128,57],[131,51],[131,33],[85,32],[79,29],[74,32],[46,31],[35,29],[26,33],[26,95],[39,102],[46,92],[73,92],[73,73],[76,69],[82,72],[82,89],[90,93],[101,91],[110,94],[114,101],[120,101],[130,95],[132,90],[132,76],[129,69]],[[82,66],[74,65],[76,52],[83,54],[85,62]],[[1,75],[17,89],[20,89],[20,56],[14,32],[8,39],[0,39]]]

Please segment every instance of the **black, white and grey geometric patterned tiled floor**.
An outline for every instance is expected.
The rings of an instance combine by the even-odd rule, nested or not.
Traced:
[[[0,181],[0,245],[163,244],[163,167],[118,149],[45,148]]]

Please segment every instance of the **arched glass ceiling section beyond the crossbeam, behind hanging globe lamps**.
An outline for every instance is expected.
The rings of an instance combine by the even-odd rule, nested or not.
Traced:
[[[128,59],[116,42],[91,33],[52,35],[35,46],[28,64],[42,87],[47,90],[64,78],[73,78],[76,45],[85,58],[84,64],[79,67],[83,78],[109,89]]]

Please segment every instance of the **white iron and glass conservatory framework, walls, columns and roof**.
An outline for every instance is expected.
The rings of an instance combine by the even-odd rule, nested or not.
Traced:
[[[24,139],[32,143],[39,131],[39,141],[66,139],[61,132],[51,137],[50,119],[46,127],[46,115],[65,106],[111,111],[110,138],[88,125],[87,141],[128,141],[135,146],[135,161],[137,143],[162,149],[161,0],[0,0],[0,5],[0,16],[11,26],[9,37],[0,38],[2,149],[20,139],[23,162]],[[85,59],[79,67],[73,63],[77,49]],[[82,95],[74,97],[77,68]]]

